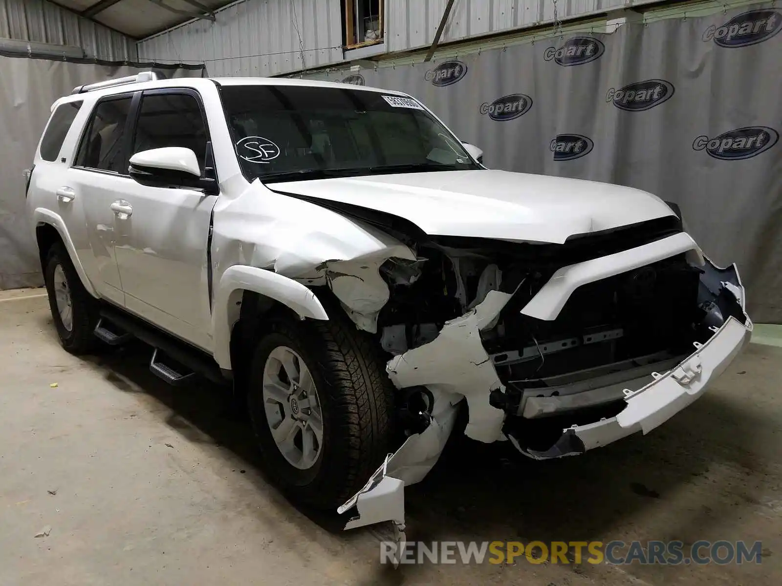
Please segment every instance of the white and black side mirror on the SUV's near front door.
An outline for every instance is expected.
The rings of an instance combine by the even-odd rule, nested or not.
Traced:
[[[190,148],[164,147],[131,156],[129,173],[150,188],[195,188],[217,193],[217,181],[202,177],[195,152]]]

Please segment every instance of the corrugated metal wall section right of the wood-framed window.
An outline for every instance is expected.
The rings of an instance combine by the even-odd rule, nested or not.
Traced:
[[[558,0],[559,20],[652,4],[660,0]],[[448,0],[389,0],[389,52],[431,45]],[[442,42],[554,22],[554,0],[457,0]]]

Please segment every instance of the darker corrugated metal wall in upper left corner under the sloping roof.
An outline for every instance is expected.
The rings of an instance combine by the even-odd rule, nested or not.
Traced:
[[[0,0],[0,37],[81,47],[96,59],[137,59],[131,38],[45,0]]]

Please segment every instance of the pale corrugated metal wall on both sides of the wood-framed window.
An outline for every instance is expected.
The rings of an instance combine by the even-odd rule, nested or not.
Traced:
[[[558,0],[560,20],[661,0]],[[264,76],[351,59],[342,43],[342,0],[242,0],[198,21],[138,43],[142,60],[206,61],[211,76]],[[387,52],[429,45],[447,0],[385,0]],[[554,21],[554,0],[457,0],[443,42],[523,29]],[[242,55],[264,55],[245,59]]]

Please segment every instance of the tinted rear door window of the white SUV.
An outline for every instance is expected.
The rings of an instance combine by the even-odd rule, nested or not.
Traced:
[[[124,131],[131,97],[104,100],[95,106],[88,132],[81,138],[76,165],[127,173]]]

